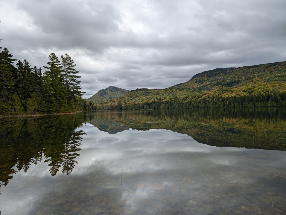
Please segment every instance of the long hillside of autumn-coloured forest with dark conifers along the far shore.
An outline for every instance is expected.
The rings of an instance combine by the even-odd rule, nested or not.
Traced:
[[[102,110],[286,106],[286,62],[205,71],[169,88],[137,89]]]

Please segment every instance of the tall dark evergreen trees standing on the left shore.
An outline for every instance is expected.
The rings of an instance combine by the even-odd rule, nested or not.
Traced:
[[[48,60],[45,70],[31,67],[27,59],[14,59],[0,46],[1,115],[95,110],[92,102],[82,99],[85,92],[71,56],[66,53],[59,59],[51,53]]]

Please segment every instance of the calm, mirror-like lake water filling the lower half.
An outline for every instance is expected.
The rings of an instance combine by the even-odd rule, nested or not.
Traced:
[[[286,214],[286,109],[0,119],[8,214]]]

